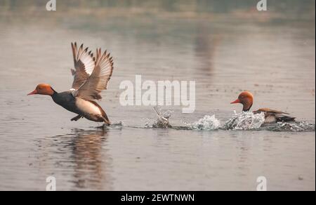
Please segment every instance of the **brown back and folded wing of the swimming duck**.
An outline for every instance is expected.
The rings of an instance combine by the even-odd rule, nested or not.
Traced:
[[[288,116],[289,113],[278,110],[272,110],[270,108],[261,108],[254,111],[255,114],[263,112],[265,114],[265,121],[294,121],[295,117]]]

